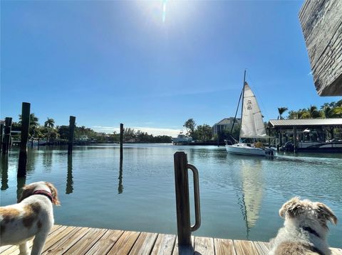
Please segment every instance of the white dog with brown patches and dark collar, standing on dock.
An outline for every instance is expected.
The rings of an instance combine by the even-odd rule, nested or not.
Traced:
[[[59,205],[51,183],[25,185],[18,204],[0,207],[0,246],[18,244],[20,255],[28,255],[28,241],[34,237],[31,255],[39,255],[53,227],[52,204]]]

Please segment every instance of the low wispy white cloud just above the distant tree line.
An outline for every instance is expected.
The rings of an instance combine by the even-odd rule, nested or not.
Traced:
[[[152,134],[153,136],[172,136],[175,137],[180,134],[180,131],[185,133],[183,129],[160,129],[160,128],[153,128],[153,127],[145,127],[145,126],[130,126],[131,129],[135,129],[135,131],[142,131],[147,132],[147,134]],[[92,126],[97,132],[104,132],[104,133],[113,133],[114,131],[120,132],[118,127],[114,126]]]

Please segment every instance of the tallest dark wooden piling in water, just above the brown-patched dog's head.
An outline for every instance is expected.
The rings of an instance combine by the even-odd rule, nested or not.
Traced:
[[[26,177],[26,164],[27,164],[27,141],[28,129],[30,126],[30,103],[23,103],[21,107],[21,141],[19,151],[19,164],[17,178]]]

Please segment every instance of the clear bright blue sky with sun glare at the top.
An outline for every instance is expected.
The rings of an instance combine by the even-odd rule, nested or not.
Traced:
[[[40,124],[177,136],[234,116],[244,70],[264,121],[336,102],[314,87],[302,4],[1,1],[0,119],[30,102]]]

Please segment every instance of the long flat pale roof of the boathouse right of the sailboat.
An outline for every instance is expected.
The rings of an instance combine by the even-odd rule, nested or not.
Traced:
[[[271,128],[293,128],[294,126],[330,126],[342,127],[342,118],[339,119],[270,119],[267,126]]]

